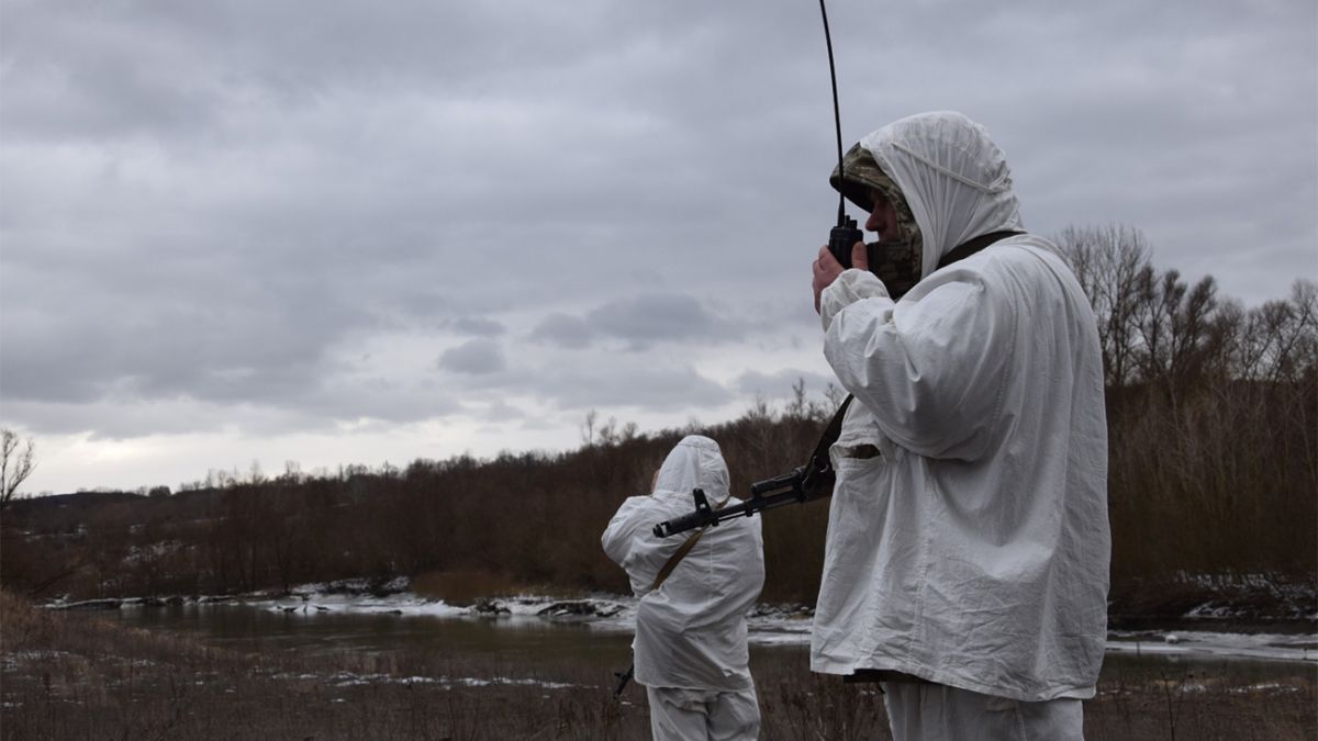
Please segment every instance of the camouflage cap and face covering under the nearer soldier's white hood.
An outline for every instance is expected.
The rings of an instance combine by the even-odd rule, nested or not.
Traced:
[[[859,144],[851,146],[842,160],[842,170],[846,173],[846,182],[841,182],[838,169],[833,169],[829,183],[838,190],[847,200],[859,206],[866,214],[874,210],[870,200],[869,189],[875,189],[888,199],[898,214],[898,231],[900,236],[894,241],[876,241],[866,245],[869,249],[870,272],[883,281],[892,298],[911,290],[911,286],[920,282],[923,240],[920,227],[911,214],[902,190],[887,174],[879,169],[874,156]]]

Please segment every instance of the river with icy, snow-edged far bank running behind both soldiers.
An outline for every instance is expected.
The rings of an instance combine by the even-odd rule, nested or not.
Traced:
[[[330,603],[330,600],[323,600]],[[547,601],[531,601],[513,614],[478,614],[434,603],[314,600],[125,605],[98,617],[153,632],[183,634],[216,647],[277,655],[335,655],[351,653],[438,653],[480,658],[506,667],[546,667],[571,663],[597,668],[602,676],[630,663],[634,610],[598,616],[546,618],[536,616]],[[430,607],[426,607],[430,605]],[[631,610],[631,612],[629,612]],[[605,610],[608,612],[608,610]],[[774,662],[808,666],[808,620],[760,616],[751,621],[751,665]],[[1294,683],[1313,680],[1318,651],[1313,636],[1240,636],[1206,632],[1169,636],[1114,636],[1103,675],[1114,680],[1127,672],[1193,676],[1203,682],[1230,675],[1232,682]],[[1102,680],[1101,680],[1102,684]]]

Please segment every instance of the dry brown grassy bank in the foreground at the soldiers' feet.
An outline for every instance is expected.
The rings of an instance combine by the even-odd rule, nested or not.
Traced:
[[[597,657],[245,653],[0,595],[7,740],[648,738],[642,690],[612,701]],[[811,674],[804,651],[753,650],[751,670],[762,738],[887,737],[874,686]],[[1311,665],[1123,663],[1086,703],[1086,738],[1313,738],[1314,701]]]

